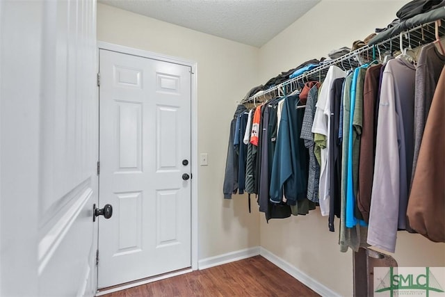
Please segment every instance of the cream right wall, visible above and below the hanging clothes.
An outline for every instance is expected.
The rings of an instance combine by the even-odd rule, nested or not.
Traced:
[[[261,47],[260,82],[311,58],[327,57],[331,49],[351,47],[389,24],[407,2],[321,1]],[[260,225],[262,247],[342,296],[352,296],[353,255],[339,252],[338,232],[328,231],[327,217],[316,211],[268,224],[261,219]],[[399,266],[445,266],[445,244],[399,232],[394,258]]]

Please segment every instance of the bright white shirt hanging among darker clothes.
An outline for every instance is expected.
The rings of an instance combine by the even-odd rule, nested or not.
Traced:
[[[327,71],[325,81],[321,86],[320,95],[316,104],[314,124],[312,132],[324,136],[324,141],[316,141],[316,145],[321,147],[321,174],[318,193],[320,196],[320,210],[322,216],[329,215],[329,184],[330,184],[330,160],[329,160],[329,141],[330,141],[330,89],[335,79],[345,77],[346,73],[337,66],[330,66]]]

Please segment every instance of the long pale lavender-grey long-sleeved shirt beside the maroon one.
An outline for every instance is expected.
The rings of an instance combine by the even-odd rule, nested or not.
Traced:
[[[387,63],[378,111],[368,243],[394,252],[397,230],[406,227],[414,154],[416,69],[403,58]]]

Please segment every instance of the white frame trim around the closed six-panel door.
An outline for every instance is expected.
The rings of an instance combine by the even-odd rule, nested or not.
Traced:
[[[156,54],[152,51],[145,51],[142,49],[133,49],[131,47],[124,47],[122,45],[115,45],[113,43],[97,41],[97,72],[99,73],[99,50],[106,49],[108,51],[116,51],[122,54],[131,54],[133,56],[140,56],[143,58],[150,58],[153,60],[159,60],[169,63],[175,63],[180,65],[185,65],[191,67],[191,173],[193,177],[191,178],[191,269],[193,271],[197,270],[197,255],[198,255],[198,238],[197,238],[197,180],[198,180],[198,172],[197,172],[197,63],[195,61],[189,61],[183,58],[176,58],[172,56],[166,56],[163,54]],[[99,104],[99,87],[97,88],[97,102]],[[99,109],[98,109],[99,111]],[[99,120],[99,118],[98,118]],[[99,143],[99,137],[97,138],[97,142]],[[99,156],[100,158],[100,156]],[[97,177],[99,179],[99,176]],[[98,195],[99,198],[99,195]],[[102,205],[101,205],[102,207]],[[96,229],[98,230],[99,225],[96,224]],[[98,232],[95,232],[95,241],[99,239]],[[184,271],[187,272],[187,271]],[[97,273],[97,266],[96,266]],[[178,275],[180,273],[166,273],[162,275],[162,278],[168,278],[170,276]],[[96,274],[97,275],[97,274]],[[141,280],[140,282],[134,282],[131,284],[126,284],[121,287],[113,288],[106,291],[101,291],[97,294],[97,296],[102,294],[111,293],[112,291],[118,291],[120,289],[126,289],[128,287],[136,287],[140,284],[145,284],[148,282],[152,282],[154,280],[159,280],[160,277],[154,276],[153,278],[149,278],[147,280]],[[97,288],[97,280],[96,280],[96,288]]]

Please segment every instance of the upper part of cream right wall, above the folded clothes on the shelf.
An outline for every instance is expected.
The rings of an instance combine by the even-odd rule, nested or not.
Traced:
[[[385,28],[407,0],[322,0],[259,51],[259,79],[289,70],[312,58],[327,58],[340,47],[352,47],[375,28]]]

